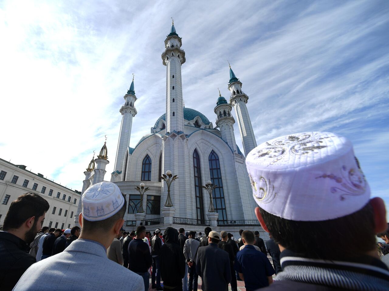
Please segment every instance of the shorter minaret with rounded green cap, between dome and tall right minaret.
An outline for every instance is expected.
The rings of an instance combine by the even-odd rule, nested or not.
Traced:
[[[232,148],[233,152],[236,153],[237,144],[234,135],[235,119],[232,117],[231,109],[232,106],[227,103],[227,100],[223,96],[221,96],[219,90],[219,98],[217,98],[216,107],[214,108],[214,112],[217,115],[216,125],[220,128],[221,138],[223,138]]]

